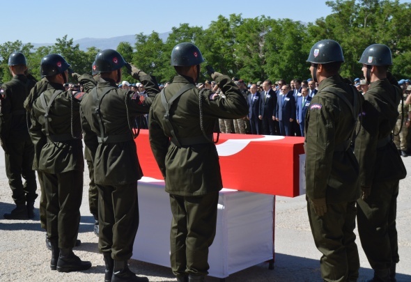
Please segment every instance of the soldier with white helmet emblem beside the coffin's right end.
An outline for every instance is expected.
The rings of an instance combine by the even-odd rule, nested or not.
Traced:
[[[357,159],[350,149],[364,101],[339,75],[343,50],[334,40],[320,40],[309,58],[318,93],[305,120],[307,211],[324,281],[357,281],[355,201],[359,198]]]

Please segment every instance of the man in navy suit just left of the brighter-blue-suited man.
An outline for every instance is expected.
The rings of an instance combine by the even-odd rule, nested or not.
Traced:
[[[280,88],[281,94],[277,100],[276,119],[279,121],[280,134],[291,136],[291,127],[295,120],[295,99],[292,92],[288,92],[288,86]]]

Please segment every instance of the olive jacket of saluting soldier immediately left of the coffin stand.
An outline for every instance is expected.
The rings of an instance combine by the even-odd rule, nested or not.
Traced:
[[[137,157],[137,148],[130,125],[141,113],[148,113],[153,97],[160,91],[149,75],[139,72],[139,80],[144,84],[148,97],[144,101],[132,91],[119,89],[114,81],[100,78],[97,85],[101,100],[100,114],[104,127],[104,136],[130,134],[130,140],[116,143],[98,143],[101,136],[100,118],[95,113],[97,102],[92,93],[82,100],[82,127],[84,143],[90,149],[94,164],[94,181],[98,185],[125,185],[141,179],[143,172]],[[103,91],[111,90],[104,94]]]

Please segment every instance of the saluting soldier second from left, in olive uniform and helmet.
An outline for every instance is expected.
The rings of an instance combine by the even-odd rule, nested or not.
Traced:
[[[47,89],[33,102],[30,135],[47,197],[47,237],[52,244],[50,268],[59,272],[84,270],[88,261],[75,256],[82,204],[84,160],[79,102],[84,93],[65,91],[70,65],[58,54],[40,63]],[[80,79],[83,80],[83,79]],[[84,76],[87,88],[95,81]]]

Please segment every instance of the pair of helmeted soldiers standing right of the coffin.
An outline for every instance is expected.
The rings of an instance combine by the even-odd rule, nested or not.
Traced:
[[[370,82],[364,96],[339,75],[344,58],[338,42],[317,42],[307,61],[319,83],[304,129],[307,212],[314,242],[323,253],[323,280],[357,281],[357,217],[359,239],[374,270],[369,282],[395,282],[396,200],[406,171],[391,136],[402,96],[387,71],[391,50],[381,44],[364,50],[359,63]]]

